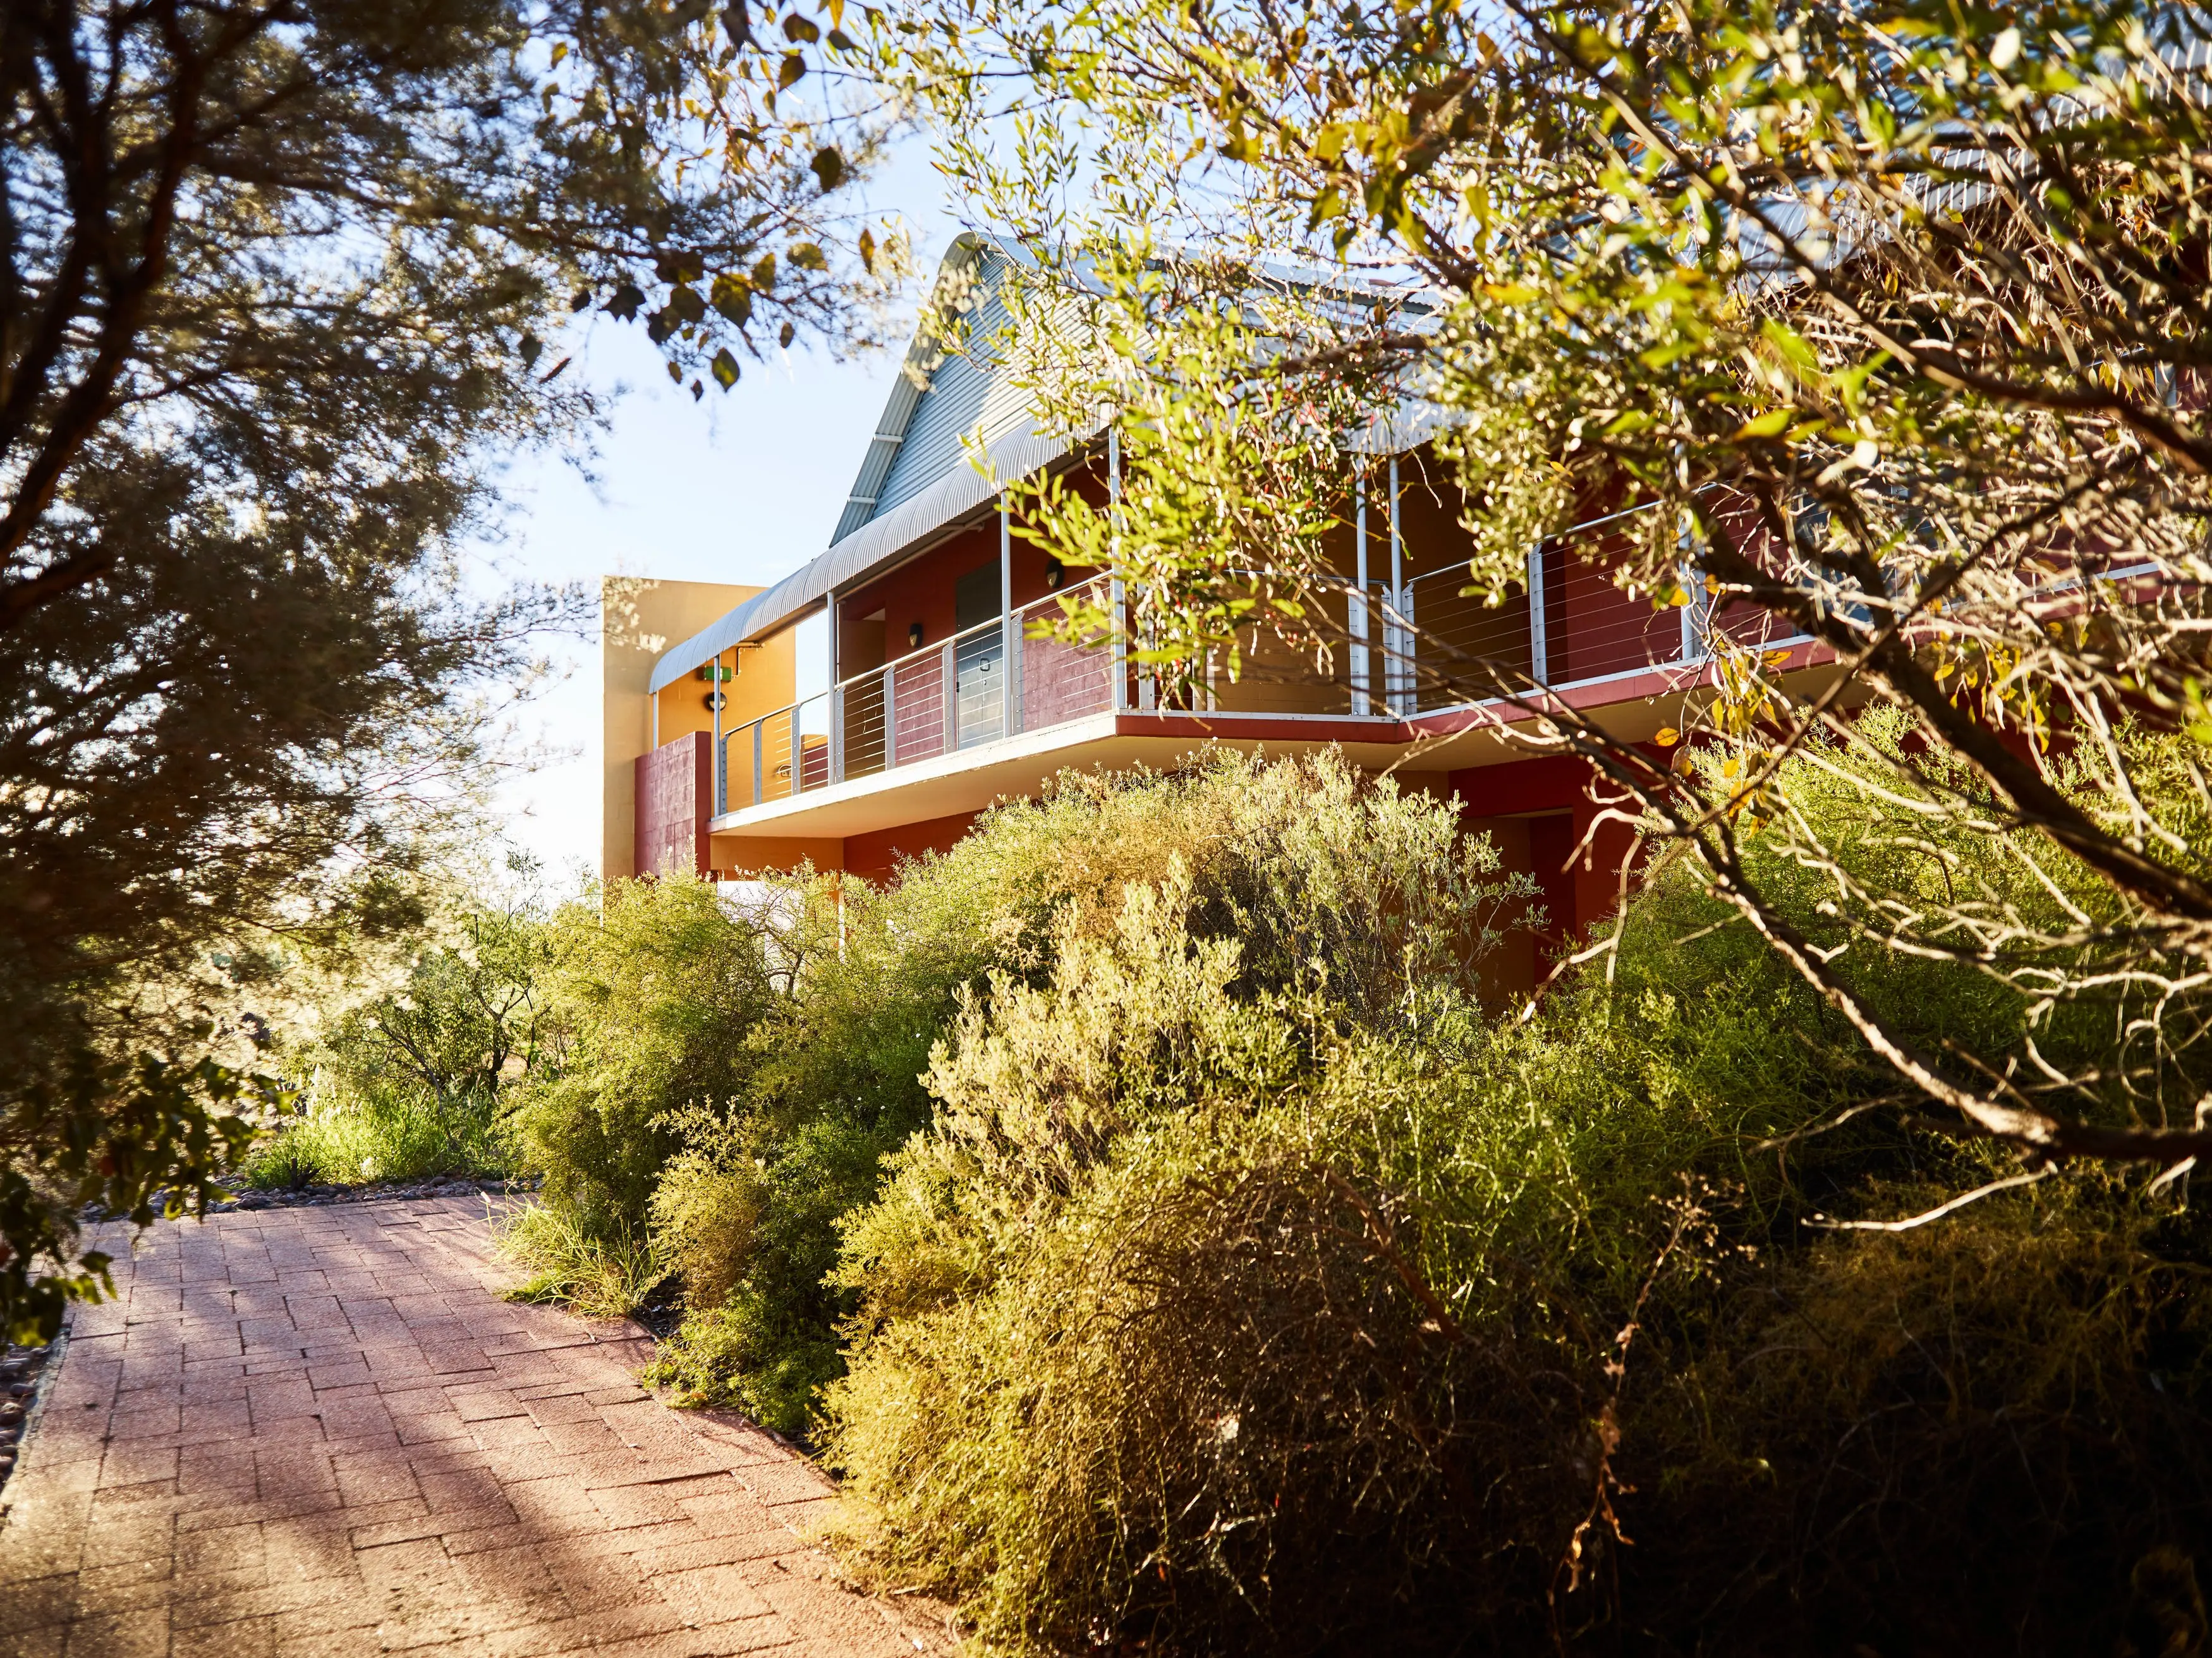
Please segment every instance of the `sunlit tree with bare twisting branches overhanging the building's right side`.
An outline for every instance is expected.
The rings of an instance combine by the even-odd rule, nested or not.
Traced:
[[[958,33],[885,40],[951,170],[1044,250],[1026,308],[1091,294],[1042,387],[1071,427],[1121,412],[1130,478],[1119,509],[1042,487],[1040,522],[1117,564],[1157,660],[1234,664],[1254,624],[1343,644],[1321,536],[1376,423],[1438,432],[1478,593],[1593,502],[1641,509],[1621,584],[1767,615],[1834,671],[1714,626],[1672,753],[1509,662],[1429,642],[1422,673],[1584,755],[1916,1111],[2017,1147],[2020,1178],[2212,1151],[2199,11],[971,0]],[[1055,235],[1075,182],[1095,210]],[[1867,704],[1902,737],[1869,739]],[[1814,773],[1865,826],[2024,830],[2048,901],[1940,857],[1867,885],[1794,810]],[[1747,835],[1829,879],[1827,934],[1759,888]],[[2020,1040],[1916,1047],[1851,947],[1973,963]],[[2095,1063],[2037,1051],[2066,1005],[2110,1012]]]

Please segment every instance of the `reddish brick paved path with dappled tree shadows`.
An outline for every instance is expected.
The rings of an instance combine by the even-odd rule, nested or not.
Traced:
[[[108,1248],[0,1492],[4,1658],[949,1649],[801,1543],[818,1472],[637,1388],[630,1326],[500,1302],[482,1202]]]

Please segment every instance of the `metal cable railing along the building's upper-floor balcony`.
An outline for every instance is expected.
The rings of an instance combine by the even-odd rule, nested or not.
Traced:
[[[1714,613],[1694,587],[1688,607],[1661,609],[1617,589],[1604,553],[1608,536],[1626,533],[1619,518],[1577,525],[1573,549],[1564,540],[1533,549],[1526,580],[1500,604],[1460,593],[1464,564],[1413,576],[1396,593],[1387,582],[1371,584],[1363,600],[1347,595],[1334,618],[1354,644],[1336,653],[1327,673],[1310,660],[1276,662],[1259,642],[1239,682],[1175,695],[1157,693],[1133,671],[1110,635],[1084,644],[1044,635],[1035,624],[1060,618],[1060,595],[1042,598],[726,733],[714,815],[1115,708],[1405,719],[1467,706],[1469,697],[1449,684],[1455,657],[1484,657],[1571,691],[1652,669],[1692,669],[1714,631],[1741,642],[1796,638],[1783,640],[1774,620],[1750,604]],[[1588,558],[1590,538],[1597,562]],[[1104,576],[1086,587],[1099,600],[1110,593]]]

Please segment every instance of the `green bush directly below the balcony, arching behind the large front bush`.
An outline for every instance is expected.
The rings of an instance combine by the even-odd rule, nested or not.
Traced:
[[[1068,939],[1110,936],[1124,894],[1181,881],[1190,928],[1237,941],[1237,994],[1336,976],[1383,1009],[1471,983],[1498,916],[1528,897],[1453,812],[1363,784],[1338,759],[1212,755],[1172,775],[1068,775],[1002,806],[898,885],[843,892],[843,930],[805,954],[794,994],[752,1036],[757,1069],[712,1113],[666,1118],[657,1226],[690,1317],[655,1379],[803,1432],[841,1370],[856,1293],[827,1282],[843,1217],[931,1120],[925,1074],[978,994],[1042,983]]]

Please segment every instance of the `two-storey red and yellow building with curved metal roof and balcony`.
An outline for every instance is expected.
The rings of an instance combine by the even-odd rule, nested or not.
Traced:
[[[1347,578],[1334,620],[1354,644],[1316,669],[1259,640],[1239,680],[1164,695],[1128,660],[1119,620],[1086,644],[1040,638],[1082,582],[1115,618],[1124,609],[1108,578],[1064,569],[1018,533],[1004,483],[1055,469],[1104,500],[1119,454],[1110,429],[1066,441],[1029,418],[993,354],[1004,270],[984,237],[953,246],[940,279],[975,297],[971,345],[909,352],[818,558],[765,591],[611,593],[633,624],[619,653],[608,649],[606,874],[737,879],[812,861],[883,881],[1066,768],[1170,766],[1208,744],[1332,746],[1455,799],[1471,830],[1542,881],[1551,943],[1604,916],[1628,843],[1610,826],[1590,835],[1586,768],[1515,746],[1522,711],[1438,691],[1418,673],[1422,651],[1511,660],[1562,704],[1646,742],[1679,722],[1708,629],[1741,633],[1763,618],[1655,609],[1619,591],[1604,553],[1626,525],[1610,518],[1533,549],[1504,602],[1467,598],[1453,491],[1413,443],[1367,456],[1371,483],[1332,547]],[[635,624],[644,611],[659,631]],[[684,638],[679,618],[692,626]],[[1818,671],[1805,642],[1770,642],[1792,651],[1792,671]],[[1544,941],[1517,947],[1526,961],[1506,963],[1504,981],[1533,983]]]

